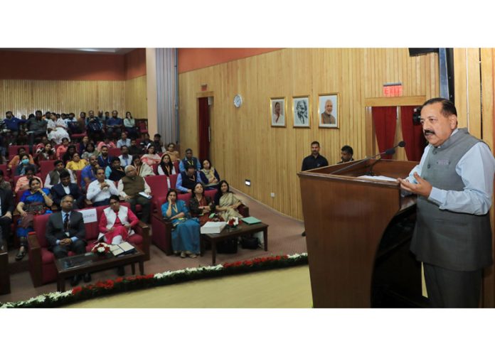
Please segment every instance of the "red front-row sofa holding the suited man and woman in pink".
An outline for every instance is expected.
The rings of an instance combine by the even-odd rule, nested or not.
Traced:
[[[128,203],[121,203],[121,205],[129,207]],[[85,224],[87,252],[96,244],[96,239],[99,234],[98,221],[105,208],[106,206],[88,208],[96,209],[98,219],[96,222]],[[28,234],[29,271],[35,287],[53,282],[57,277],[57,269],[55,268],[54,262],[55,257],[53,256],[53,253],[48,250],[48,242],[45,237],[49,216],[49,214],[36,216],[33,221],[34,232]],[[134,227],[134,232],[136,232],[136,234],[129,237],[129,242],[132,242],[132,244],[135,244],[142,249],[144,254],[146,254],[145,259],[148,261],[150,244],[149,226],[140,221],[139,224]]]

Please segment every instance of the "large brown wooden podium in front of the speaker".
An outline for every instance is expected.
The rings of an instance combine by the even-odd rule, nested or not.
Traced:
[[[315,308],[372,306],[380,241],[395,217],[415,212],[415,196],[401,197],[396,182],[357,177],[372,171],[375,176],[404,178],[416,164],[373,159],[299,173]],[[413,256],[408,258],[413,261]],[[400,269],[403,262],[397,261]],[[421,294],[420,273],[390,273]]]

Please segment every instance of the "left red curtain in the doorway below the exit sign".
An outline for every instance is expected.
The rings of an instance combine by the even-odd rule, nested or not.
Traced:
[[[383,152],[394,146],[395,126],[397,126],[397,107],[372,107],[373,124],[375,124],[378,149]],[[383,155],[384,159],[391,159],[391,155]]]

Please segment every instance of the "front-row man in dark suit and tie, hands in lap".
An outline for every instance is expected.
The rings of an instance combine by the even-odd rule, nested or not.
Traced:
[[[55,212],[48,218],[46,227],[46,239],[55,259],[67,257],[68,252],[84,254],[86,252],[86,230],[82,214],[73,210],[74,198],[65,195],[60,202],[62,211]],[[71,286],[77,286],[81,280],[80,275],[73,277]],[[85,274],[84,281],[91,281],[90,274]]]

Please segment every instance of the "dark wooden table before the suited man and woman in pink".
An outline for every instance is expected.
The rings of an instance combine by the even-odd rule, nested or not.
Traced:
[[[92,252],[86,252],[85,254],[64,257],[63,259],[55,259],[55,266],[57,267],[57,291],[65,291],[65,279],[75,276],[76,274],[102,271],[114,267],[125,266],[127,264],[131,265],[132,274],[134,274],[134,264],[136,262],[139,264],[139,272],[144,274],[145,254],[139,247],[134,247],[136,248],[134,254],[124,254],[117,257],[113,254],[107,254],[100,257]]]

